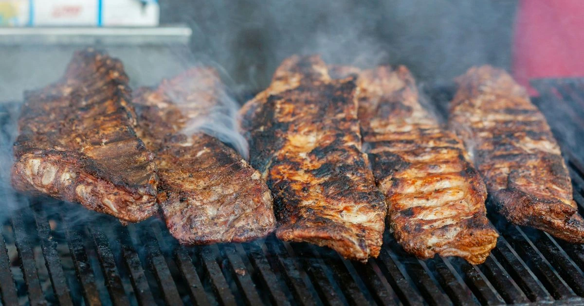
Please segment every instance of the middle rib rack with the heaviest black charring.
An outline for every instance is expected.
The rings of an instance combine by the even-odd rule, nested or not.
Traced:
[[[355,90],[320,58],[294,56],[242,108],[241,127],[274,195],[277,237],[367,261],[379,254],[387,207],[361,152]]]

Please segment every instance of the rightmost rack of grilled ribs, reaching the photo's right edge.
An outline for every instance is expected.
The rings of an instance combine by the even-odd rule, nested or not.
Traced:
[[[463,138],[497,208],[512,223],[584,242],[584,220],[558,143],[523,87],[502,69],[457,79],[450,126]]]

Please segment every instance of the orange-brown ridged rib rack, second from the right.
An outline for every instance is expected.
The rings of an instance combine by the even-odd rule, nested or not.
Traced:
[[[396,240],[419,258],[440,254],[484,262],[499,236],[486,218],[485,184],[461,140],[422,107],[408,69],[333,71],[359,76],[364,146]]]

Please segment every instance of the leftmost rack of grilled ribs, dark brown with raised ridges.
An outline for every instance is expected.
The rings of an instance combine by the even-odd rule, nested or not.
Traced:
[[[74,54],[60,81],[25,93],[13,187],[126,221],[152,216],[158,177],[134,133],[127,82],[120,61],[88,49]]]

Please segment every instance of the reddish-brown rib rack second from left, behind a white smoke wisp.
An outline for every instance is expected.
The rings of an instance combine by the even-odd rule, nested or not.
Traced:
[[[135,95],[138,135],[157,155],[158,202],[182,244],[249,241],[274,230],[272,195],[260,173],[235,150],[185,125],[204,119],[222,84],[210,68],[193,68],[158,89]]]

